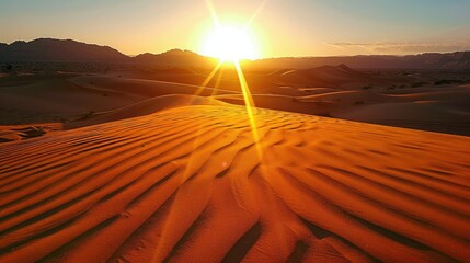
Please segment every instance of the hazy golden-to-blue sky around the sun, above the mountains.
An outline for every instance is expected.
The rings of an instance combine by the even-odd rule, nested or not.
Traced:
[[[208,2],[221,24],[251,21],[260,57],[470,50],[470,0],[0,0],[0,42],[200,53],[214,28]]]

